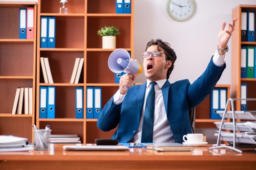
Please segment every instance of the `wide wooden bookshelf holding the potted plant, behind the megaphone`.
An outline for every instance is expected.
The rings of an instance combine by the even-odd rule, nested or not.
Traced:
[[[115,0],[72,0],[65,6],[68,14],[59,14],[59,1],[38,1],[37,29],[37,126],[51,125],[52,134],[78,134],[83,143],[94,143],[96,138],[110,138],[111,132],[97,128],[97,119],[86,119],[86,87],[102,87],[102,107],[117,91],[114,73],[107,60],[115,49],[102,49],[102,37],[97,31],[105,25],[114,25],[121,34],[117,36],[117,47],[134,54],[133,44],[133,0],[131,14],[115,14]],[[40,48],[41,16],[56,17],[54,49]],[[40,66],[40,57],[48,57],[54,84],[45,84]],[[84,66],[78,84],[70,84],[76,57],[84,58]],[[39,119],[40,86],[55,86],[55,119]],[[75,88],[84,87],[84,119],[75,118]]]

